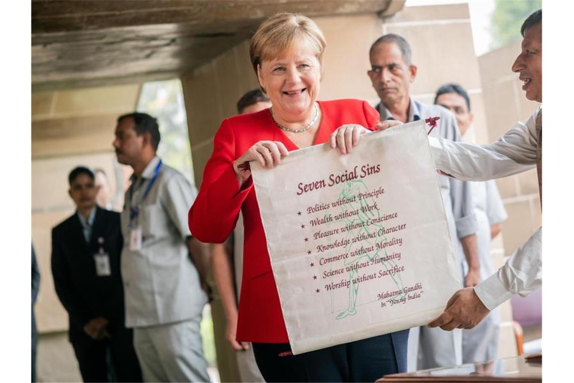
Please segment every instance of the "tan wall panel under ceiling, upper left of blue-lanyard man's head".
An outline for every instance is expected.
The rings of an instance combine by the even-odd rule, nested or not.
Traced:
[[[139,85],[85,88],[56,93],[54,113],[64,115],[122,114],[134,111]]]

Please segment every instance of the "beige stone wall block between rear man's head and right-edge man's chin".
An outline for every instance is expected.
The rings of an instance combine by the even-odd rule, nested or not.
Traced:
[[[488,136],[501,137],[518,121],[515,93],[510,82],[485,85],[482,88],[487,110]]]

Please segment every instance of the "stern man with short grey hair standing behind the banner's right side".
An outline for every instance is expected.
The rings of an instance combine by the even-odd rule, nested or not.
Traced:
[[[452,113],[444,107],[424,105],[410,97],[410,84],[416,78],[417,67],[412,63],[409,43],[403,37],[392,33],[379,37],[371,45],[369,57],[371,69],[367,74],[381,99],[376,107],[381,121],[393,119],[412,122],[438,116],[439,125],[430,135],[460,141],[459,129]],[[470,184],[448,177],[439,177],[439,182],[461,278],[465,287],[472,287],[480,282],[480,267],[476,245],[478,223]],[[468,265],[466,275],[465,261]],[[417,352],[419,345],[420,350]],[[459,365],[462,362],[461,352],[460,331],[449,333],[439,328],[414,328],[409,335],[408,368]],[[417,354],[420,354],[418,363]]]

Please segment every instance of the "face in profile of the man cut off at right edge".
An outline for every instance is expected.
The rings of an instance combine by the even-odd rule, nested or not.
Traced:
[[[522,52],[512,65],[519,73],[526,98],[542,102],[542,24],[531,26],[522,40]]]

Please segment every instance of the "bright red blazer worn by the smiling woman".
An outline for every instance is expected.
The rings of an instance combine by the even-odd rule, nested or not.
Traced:
[[[379,113],[367,102],[334,100],[319,102],[322,117],[316,144],[346,123],[375,129]],[[273,278],[265,233],[251,177],[239,188],[232,163],[255,142],[281,141],[287,150],[298,149],[273,122],[269,110],[224,119],[214,138],[214,152],[205,165],[199,195],[189,209],[189,230],[202,242],[227,239],[243,212],[243,283],[237,323],[238,341],[288,343],[277,286]]]

